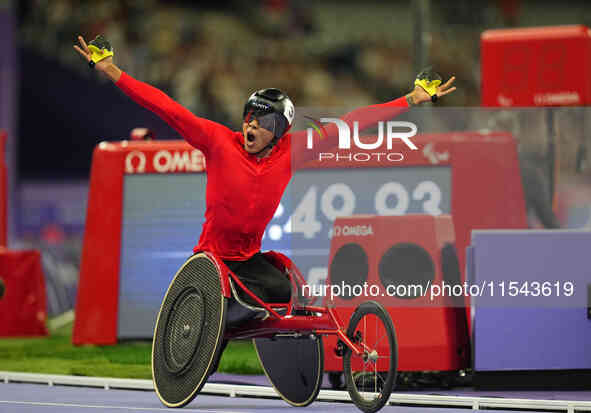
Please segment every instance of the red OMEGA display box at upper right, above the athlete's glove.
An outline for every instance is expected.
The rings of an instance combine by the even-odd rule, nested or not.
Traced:
[[[591,29],[487,30],[480,38],[483,106],[591,104]]]

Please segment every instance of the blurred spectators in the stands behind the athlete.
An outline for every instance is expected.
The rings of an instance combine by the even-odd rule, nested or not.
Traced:
[[[281,88],[298,106],[352,108],[408,92],[415,76],[409,1],[19,3],[25,47],[87,71],[72,50],[76,35],[104,34],[124,70],[226,124],[235,124],[258,88]],[[479,104],[479,31],[503,24],[505,3],[519,4],[431,2],[430,63],[444,77],[461,79],[443,104]],[[515,10],[507,18],[515,19]]]

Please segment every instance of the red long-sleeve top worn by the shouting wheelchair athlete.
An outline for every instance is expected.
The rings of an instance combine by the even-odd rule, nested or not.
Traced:
[[[206,250],[224,260],[238,261],[257,253],[263,232],[295,169],[291,154],[305,153],[305,131],[286,134],[269,156],[257,158],[244,150],[242,132],[195,116],[162,91],[125,72],[116,85],[135,102],[164,119],[205,155],[205,223],[194,251]],[[357,109],[342,119],[358,121],[362,130],[406,108],[408,103],[402,97]],[[334,125],[325,128],[329,135],[335,132],[331,127]]]

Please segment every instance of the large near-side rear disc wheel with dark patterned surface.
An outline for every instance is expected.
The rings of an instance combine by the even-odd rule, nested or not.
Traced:
[[[164,296],[152,343],[152,377],[167,407],[197,396],[221,350],[226,317],[216,264],[205,254],[189,258]]]

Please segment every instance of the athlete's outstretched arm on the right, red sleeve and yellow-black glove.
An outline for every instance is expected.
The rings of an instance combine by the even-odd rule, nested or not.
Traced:
[[[398,99],[390,102],[365,106],[359,109],[355,109],[340,119],[347,123],[349,130],[353,131],[353,122],[357,122],[358,131],[362,132],[370,127],[375,126],[379,121],[395,118],[396,116],[409,110],[411,106],[420,105],[424,102],[431,102],[434,99],[432,95],[437,98],[445,96],[454,90],[456,90],[453,82],[455,76],[452,76],[447,82],[427,92],[422,86],[416,85],[412,92]],[[436,100],[436,99],[435,99]],[[338,128],[334,123],[324,124],[321,133],[315,130],[312,135],[312,146],[314,150],[307,149],[307,130],[296,132],[292,135],[292,163],[296,168],[301,166],[302,163],[310,161],[316,157],[323,150],[333,149],[338,137]]]

